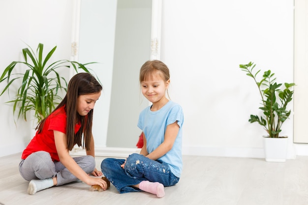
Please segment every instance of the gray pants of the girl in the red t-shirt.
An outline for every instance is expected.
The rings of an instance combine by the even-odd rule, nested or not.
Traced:
[[[73,157],[75,162],[87,174],[94,171],[94,157],[87,155],[81,157]],[[51,156],[46,151],[37,151],[23,159],[19,164],[20,175],[30,181],[32,179],[46,179],[57,176],[59,185],[76,181],[78,178],[71,174],[61,162],[53,162]]]

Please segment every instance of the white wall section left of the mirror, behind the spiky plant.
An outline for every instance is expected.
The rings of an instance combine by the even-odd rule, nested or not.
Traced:
[[[36,50],[38,43],[49,51],[57,50],[54,59],[70,59],[71,24],[74,0],[1,0],[0,1],[0,72],[14,60],[23,60],[25,43]],[[69,76],[69,72],[62,75]],[[5,83],[0,84],[4,88]],[[0,156],[21,152],[29,143],[34,127],[31,117],[14,124],[12,107],[0,97]]]

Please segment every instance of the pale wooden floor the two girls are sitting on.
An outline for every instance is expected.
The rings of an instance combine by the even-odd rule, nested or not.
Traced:
[[[139,192],[104,192],[76,182],[28,195],[18,172],[21,154],[0,158],[3,205],[308,205],[308,157],[284,163],[264,159],[184,156],[180,182],[165,187],[165,197]],[[99,169],[103,157],[96,157]]]

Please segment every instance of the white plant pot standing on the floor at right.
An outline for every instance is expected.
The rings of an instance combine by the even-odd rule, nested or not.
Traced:
[[[269,138],[263,136],[265,161],[267,162],[285,162],[287,158],[288,138]]]

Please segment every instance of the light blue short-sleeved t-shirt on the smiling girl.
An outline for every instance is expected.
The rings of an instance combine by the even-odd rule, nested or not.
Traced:
[[[151,111],[151,106],[144,109],[138,120],[138,127],[144,132],[147,140],[148,153],[153,152],[163,141],[167,125],[178,123],[180,129],[173,147],[165,155],[158,158],[158,162],[169,165],[171,172],[180,177],[183,168],[182,162],[182,125],[184,115],[182,107],[172,101],[166,103],[161,109]]]

